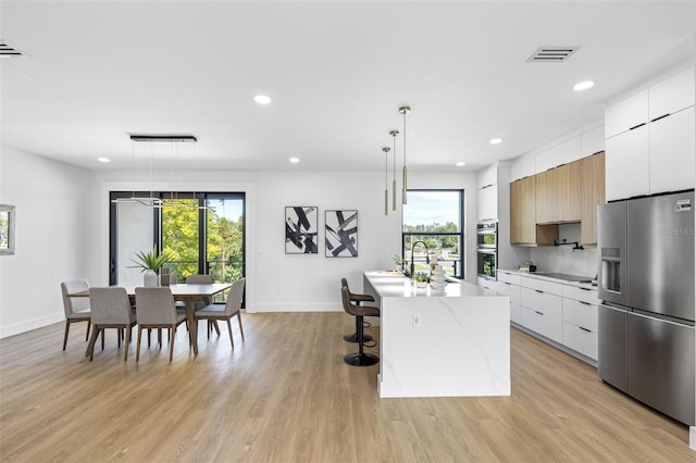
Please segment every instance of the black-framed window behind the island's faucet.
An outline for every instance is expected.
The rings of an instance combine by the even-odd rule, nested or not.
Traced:
[[[427,247],[447,275],[463,278],[463,190],[409,190],[401,233],[407,268],[413,262],[414,272],[427,272]]]

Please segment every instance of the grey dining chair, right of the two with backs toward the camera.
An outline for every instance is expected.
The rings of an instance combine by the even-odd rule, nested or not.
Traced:
[[[186,314],[176,310],[174,296],[167,287],[135,288],[135,311],[138,322],[138,342],[135,361],[140,360],[142,328],[170,328],[170,362],[174,355],[176,327],[184,323]],[[160,347],[161,337],[160,337]]]

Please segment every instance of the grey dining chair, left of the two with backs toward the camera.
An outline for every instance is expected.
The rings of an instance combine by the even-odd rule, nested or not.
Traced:
[[[125,288],[89,288],[89,301],[91,305],[91,340],[87,347],[89,361],[95,356],[95,343],[101,331],[101,349],[103,350],[103,333],[107,328],[116,328],[119,336],[119,347],[121,347],[121,334],[125,330],[123,361],[128,360],[128,347],[130,335],[135,326],[136,317]]]

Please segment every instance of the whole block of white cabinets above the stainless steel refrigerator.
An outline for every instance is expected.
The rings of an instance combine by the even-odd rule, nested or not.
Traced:
[[[694,68],[605,112],[607,200],[694,188]]]

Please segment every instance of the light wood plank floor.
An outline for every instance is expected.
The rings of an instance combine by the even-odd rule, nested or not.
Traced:
[[[595,368],[515,329],[512,396],[380,399],[378,366],[343,362],[344,313],[246,314],[174,361],[135,363],[115,331],[94,362],[85,327],[0,341],[0,459],[71,462],[696,461],[686,426],[604,385]],[[234,322],[233,322],[234,324]],[[203,325],[201,324],[201,328]],[[368,329],[378,336],[376,328]],[[147,345],[146,345],[147,346]],[[376,351],[376,349],[371,349]]]

